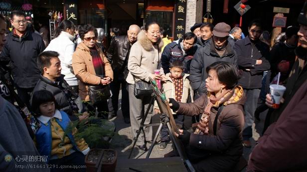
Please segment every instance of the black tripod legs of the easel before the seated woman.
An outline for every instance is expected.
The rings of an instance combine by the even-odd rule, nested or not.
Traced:
[[[134,140],[134,143],[133,143],[133,147],[132,147],[132,149],[131,149],[131,152],[130,152],[130,154],[129,154],[129,158],[128,158],[128,159],[130,159],[130,157],[131,157],[131,155],[132,155],[133,149],[134,149],[134,147],[136,146],[136,143],[137,143],[137,141],[138,141],[138,138],[139,138],[139,136],[140,136],[141,131],[143,131],[143,133],[144,133],[144,138],[145,138],[145,142],[146,142],[144,127],[156,125],[156,124],[147,124],[147,125],[144,125],[145,119],[147,118],[147,115],[148,115],[148,113],[149,113],[149,110],[150,110],[151,106],[153,105],[153,102],[154,102],[154,99],[155,99],[155,98],[156,98],[156,95],[155,95],[154,93],[152,93],[152,98],[151,98],[150,104],[149,104],[149,106],[148,106],[148,108],[147,108],[147,110],[146,110],[146,112],[145,112],[145,114],[144,114],[144,117],[143,117],[142,121],[141,121],[141,125],[140,125],[139,130],[137,130],[137,136],[133,139],[133,140]],[[158,130],[157,130],[157,132],[155,133],[155,136],[154,136],[154,139],[153,139],[153,143],[152,143],[152,145],[151,145],[151,147],[150,147],[150,149],[149,149],[149,152],[147,153],[146,158],[149,158],[149,157],[150,157],[150,155],[151,155],[151,153],[152,153],[152,151],[153,151],[153,147],[154,147],[154,145],[155,145],[155,143],[156,143],[156,140],[157,140],[157,138],[158,138],[158,135],[160,134],[160,132],[161,132],[161,130],[162,130],[162,126],[163,126],[163,125],[166,125],[166,126],[167,126],[168,134],[169,134],[169,137],[170,137],[170,139],[171,139],[171,143],[172,143],[172,145],[173,145],[173,149],[176,150],[176,152],[179,154],[181,160],[185,163],[185,165],[186,165],[186,167],[189,169],[189,171],[190,171],[190,172],[195,172],[195,170],[194,170],[192,164],[191,164],[190,161],[186,158],[185,153],[182,151],[182,150],[183,150],[183,149],[182,149],[183,146],[182,146],[181,142],[180,142],[180,141],[178,140],[178,138],[176,138],[176,137],[173,135],[173,133],[172,133],[171,126],[170,126],[170,123],[169,123],[169,117],[168,117],[166,114],[164,114],[164,113],[162,113],[161,116],[160,116],[160,124],[159,124]]]

